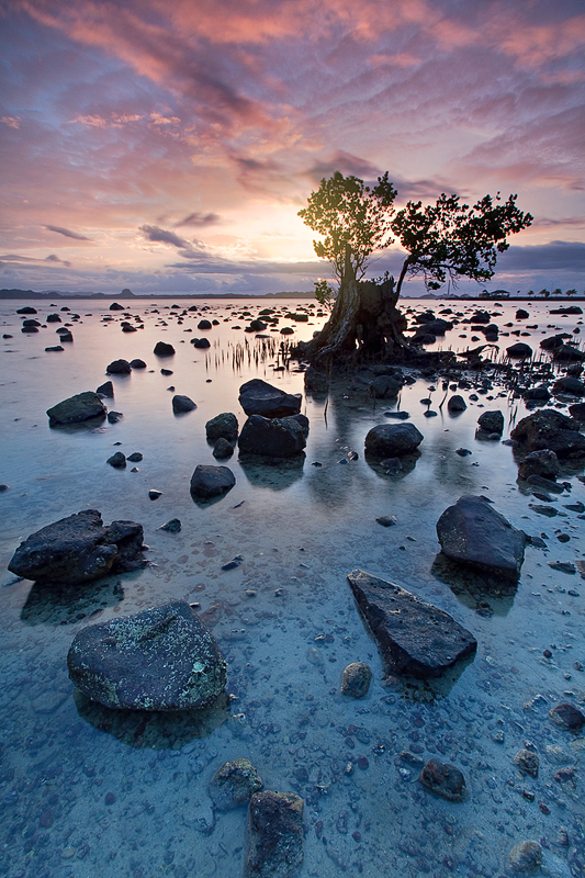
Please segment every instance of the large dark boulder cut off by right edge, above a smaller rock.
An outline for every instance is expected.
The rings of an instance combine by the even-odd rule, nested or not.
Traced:
[[[527,451],[549,448],[558,458],[585,457],[585,436],[573,418],[543,408],[522,418],[510,432],[510,438]]]

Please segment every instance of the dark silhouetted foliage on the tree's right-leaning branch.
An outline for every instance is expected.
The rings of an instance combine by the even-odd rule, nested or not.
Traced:
[[[427,290],[439,290],[449,278],[487,281],[495,272],[497,255],[508,249],[506,238],[532,223],[516,206],[516,195],[500,203],[485,195],[473,207],[459,195],[445,192],[435,204],[409,201],[391,223],[392,232],[408,252],[401,277],[423,274]]]

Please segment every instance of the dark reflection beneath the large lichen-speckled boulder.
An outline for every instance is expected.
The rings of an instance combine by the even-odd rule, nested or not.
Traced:
[[[211,735],[230,716],[225,691],[200,710],[117,710],[92,701],[79,689],[75,689],[74,700],[82,720],[128,746],[145,750],[180,750],[194,739]]]

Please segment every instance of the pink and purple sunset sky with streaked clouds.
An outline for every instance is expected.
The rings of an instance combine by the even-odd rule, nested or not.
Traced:
[[[0,0],[0,288],[310,291],[297,211],[387,170],[518,195],[487,289],[585,290],[583,0]]]

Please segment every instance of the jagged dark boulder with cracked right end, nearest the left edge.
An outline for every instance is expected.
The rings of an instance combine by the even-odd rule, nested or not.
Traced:
[[[31,533],[8,569],[25,579],[78,585],[144,565],[144,533],[134,521],[104,527],[97,509],[85,509]]]

